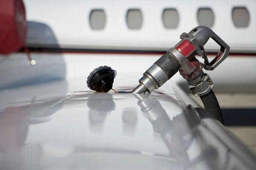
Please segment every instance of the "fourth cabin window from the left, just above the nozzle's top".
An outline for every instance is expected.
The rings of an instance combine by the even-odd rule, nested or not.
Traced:
[[[211,28],[214,23],[214,14],[211,8],[198,9],[198,24]]]

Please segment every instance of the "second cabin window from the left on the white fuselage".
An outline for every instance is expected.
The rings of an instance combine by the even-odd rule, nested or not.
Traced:
[[[127,26],[130,29],[140,29],[143,16],[140,9],[129,9],[126,14]]]

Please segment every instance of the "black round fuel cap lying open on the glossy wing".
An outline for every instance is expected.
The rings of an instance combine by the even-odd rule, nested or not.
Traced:
[[[116,71],[108,66],[94,69],[87,78],[87,86],[91,90],[108,92],[111,90],[116,77]]]

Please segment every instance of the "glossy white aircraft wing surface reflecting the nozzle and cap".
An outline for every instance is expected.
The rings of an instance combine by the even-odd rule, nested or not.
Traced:
[[[135,95],[124,93],[128,87],[94,93],[85,86],[74,79],[0,91],[1,169],[256,166],[247,148],[174,84],[163,85],[169,93]]]

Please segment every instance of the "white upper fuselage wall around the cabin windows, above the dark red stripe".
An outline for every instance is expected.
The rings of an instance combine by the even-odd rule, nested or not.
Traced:
[[[200,25],[198,10],[207,8],[212,11],[212,30],[230,45],[231,52],[255,53],[256,51],[256,11],[254,10],[256,1],[253,0],[204,0],[200,2],[185,0],[24,0],[24,4],[27,20],[49,26],[55,34],[58,45],[62,48],[166,51],[179,41],[180,34],[189,32]],[[236,27],[234,25],[233,8],[247,10],[249,15],[247,26]],[[140,10],[142,15],[138,15],[142,17],[141,27],[138,29],[128,28],[127,13],[133,9]],[[165,28],[163,23],[165,9],[174,9],[177,12],[177,20],[173,21],[177,22],[177,28]],[[102,10],[105,13],[103,19],[101,16],[95,18],[99,22],[105,22],[102,29],[91,27],[90,22],[93,21],[90,21],[90,14],[93,10]],[[137,15],[135,14],[134,17]],[[238,20],[245,19],[238,18]],[[134,22],[139,21],[134,20]],[[36,45],[38,41],[35,37],[33,39],[34,35],[29,34],[29,36],[27,43],[32,46]],[[205,49],[217,52],[219,47],[215,42],[210,41]]]

